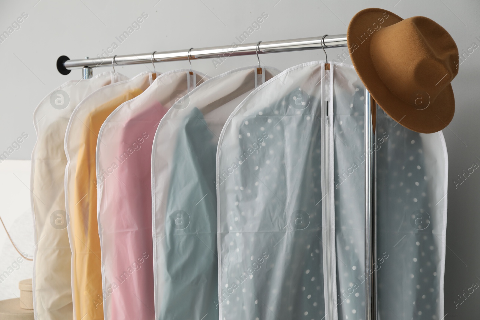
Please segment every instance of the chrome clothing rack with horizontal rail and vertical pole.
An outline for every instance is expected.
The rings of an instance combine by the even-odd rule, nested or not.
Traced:
[[[312,50],[330,47],[347,47],[347,35],[319,36],[279,41],[261,41],[238,46],[191,48],[174,51],[141,53],[100,58],[86,57],[72,60],[60,56],[57,70],[69,74],[72,69],[83,68],[83,78],[92,76],[92,68],[117,65],[215,59],[233,56],[259,55],[274,52]],[[365,89],[365,309],[366,320],[377,320],[376,306],[376,103]]]

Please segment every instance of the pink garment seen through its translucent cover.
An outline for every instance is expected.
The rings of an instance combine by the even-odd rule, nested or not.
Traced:
[[[104,174],[110,189],[104,221],[112,222],[104,229],[114,239],[110,269],[118,285],[104,288],[111,296],[111,319],[155,319],[150,162],[155,131],[167,111],[155,103],[130,119],[114,146],[118,166],[111,171],[116,172]]]

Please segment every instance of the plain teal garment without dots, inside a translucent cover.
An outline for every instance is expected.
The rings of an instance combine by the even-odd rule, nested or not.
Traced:
[[[203,114],[193,108],[180,125],[173,156],[162,241],[167,255],[158,259],[165,263],[158,319],[218,319],[213,138]]]

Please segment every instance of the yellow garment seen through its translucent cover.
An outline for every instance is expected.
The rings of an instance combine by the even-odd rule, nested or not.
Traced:
[[[82,120],[84,144],[80,146],[74,182],[74,202],[70,204],[73,223],[72,279],[77,320],[103,320],[100,238],[96,217],[96,142],[108,115],[125,101],[143,92],[127,91],[97,107]],[[100,142],[101,143],[101,142]]]

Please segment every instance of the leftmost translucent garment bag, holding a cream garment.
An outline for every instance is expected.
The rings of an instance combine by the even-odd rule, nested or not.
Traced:
[[[33,115],[37,141],[32,153],[31,203],[35,223],[33,298],[36,319],[72,319],[72,252],[67,234],[64,176],[65,130],[73,109],[105,85],[128,79],[113,72],[71,80],[48,94]]]

